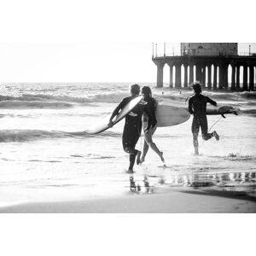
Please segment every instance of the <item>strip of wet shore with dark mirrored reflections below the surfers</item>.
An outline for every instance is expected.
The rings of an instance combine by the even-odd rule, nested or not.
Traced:
[[[130,176],[130,190],[137,194],[152,194],[156,188],[191,187],[222,191],[256,192],[256,172],[223,172],[223,173],[189,173],[170,174],[164,173],[159,176],[143,176],[132,174]]]

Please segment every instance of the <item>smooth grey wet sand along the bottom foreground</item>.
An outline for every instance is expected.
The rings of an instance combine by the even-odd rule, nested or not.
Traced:
[[[256,212],[256,196],[216,189],[160,189],[156,194],[127,195],[96,200],[24,203],[2,207],[0,212],[20,213],[246,213]]]

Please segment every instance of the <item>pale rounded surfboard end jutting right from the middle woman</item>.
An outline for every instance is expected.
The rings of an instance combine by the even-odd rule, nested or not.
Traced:
[[[158,127],[179,125],[187,121],[190,117],[190,113],[184,108],[169,105],[158,105],[155,114]]]

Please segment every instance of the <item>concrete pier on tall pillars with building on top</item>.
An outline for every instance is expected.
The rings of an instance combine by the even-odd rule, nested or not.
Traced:
[[[157,87],[163,86],[164,67],[168,65],[171,88],[188,87],[200,81],[208,89],[255,89],[256,55],[238,55],[237,43],[181,43],[180,49],[180,55],[166,55],[165,45],[164,55],[154,56],[153,53],[152,60],[157,66]]]

